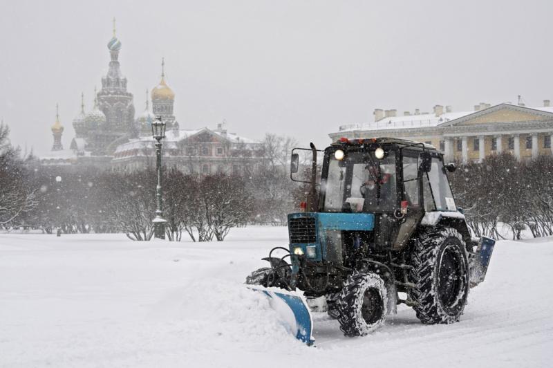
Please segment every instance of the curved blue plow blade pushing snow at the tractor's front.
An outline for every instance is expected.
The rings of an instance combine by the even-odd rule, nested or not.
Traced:
[[[269,298],[271,308],[279,313],[281,323],[285,329],[298,340],[308,345],[315,342],[312,335],[313,319],[303,296],[277,288],[251,285],[248,285],[247,288],[262,293]]]

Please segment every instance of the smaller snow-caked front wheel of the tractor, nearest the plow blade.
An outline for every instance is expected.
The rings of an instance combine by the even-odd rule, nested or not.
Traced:
[[[364,336],[386,319],[386,284],[375,273],[355,272],[348,276],[336,300],[337,319],[346,336]]]

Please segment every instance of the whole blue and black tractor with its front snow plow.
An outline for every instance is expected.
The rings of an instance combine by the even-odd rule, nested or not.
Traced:
[[[317,149],[306,151],[309,194],[304,210],[288,215],[289,247],[271,250],[270,266],[246,283],[292,300],[298,338],[308,343],[310,310],[327,311],[346,336],[371,333],[401,303],[424,324],[458,321],[469,288],[485,277],[495,241],[471,237],[449,185],[455,165],[420,142],[341,138],[324,150],[319,181]],[[297,290],[303,295],[294,300]]]

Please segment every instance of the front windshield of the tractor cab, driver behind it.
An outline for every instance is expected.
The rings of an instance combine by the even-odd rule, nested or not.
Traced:
[[[358,151],[337,160],[331,152],[321,183],[324,212],[388,212],[396,208],[395,151],[382,160]]]

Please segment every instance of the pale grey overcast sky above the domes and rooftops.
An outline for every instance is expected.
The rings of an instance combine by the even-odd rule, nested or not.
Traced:
[[[48,151],[55,104],[74,136],[107,71],[111,19],[144,109],[165,57],[182,129],[330,142],[373,109],[469,111],[553,100],[553,1],[8,1],[0,10],[0,118]]]

